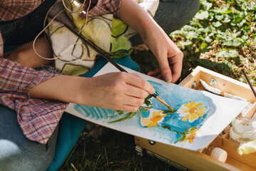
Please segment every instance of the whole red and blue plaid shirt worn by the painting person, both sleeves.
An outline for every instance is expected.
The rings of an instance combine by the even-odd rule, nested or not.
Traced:
[[[18,19],[36,9],[43,0],[0,1],[0,22]],[[119,16],[120,0],[92,0],[90,16],[113,13]],[[1,24],[1,23],[0,23]],[[16,110],[18,123],[26,138],[46,144],[68,103],[29,98],[29,90],[56,76],[35,71],[2,58],[4,42],[0,32],[0,104]]]

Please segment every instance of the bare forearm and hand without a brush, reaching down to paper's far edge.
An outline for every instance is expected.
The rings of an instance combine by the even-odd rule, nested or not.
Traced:
[[[159,68],[148,73],[175,83],[180,78],[183,53],[135,1],[122,0],[120,18],[137,31],[158,59]]]

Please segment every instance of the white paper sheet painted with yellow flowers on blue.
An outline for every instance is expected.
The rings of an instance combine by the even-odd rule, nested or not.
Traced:
[[[111,69],[111,66],[106,67]],[[98,74],[106,72],[103,70]],[[148,95],[144,105],[135,113],[77,104],[68,105],[66,111],[123,133],[198,151],[206,147],[247,105],[205,91],[143,77],[174,110]]]

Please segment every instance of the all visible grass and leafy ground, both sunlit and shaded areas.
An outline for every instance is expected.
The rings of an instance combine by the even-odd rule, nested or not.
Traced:
[[[200,11],[190,24],[170,33],[184,53],[183,73],[203,66],[246,83],[245,69],[256,86],[256,3],[252,0],[201,0]],[[158,63],[149,51],[132,57],[141,72]],[[156,157],[137,155],[131,135],[103,128],[103,136],[86,142],[83,135],[61,170],[179,170]]]

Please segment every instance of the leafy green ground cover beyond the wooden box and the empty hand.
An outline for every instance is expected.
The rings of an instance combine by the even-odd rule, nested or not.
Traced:
[[[203,66],[246,83],[241,72],[244,68],[256,86],[255,1],[201,0],[200,11],[190,24],[170,33],[170,38],[183,51],[183,73],[190,67]],[[135,51],[133,56],[143,63],[143,73],[157,66],[150,52]]]

